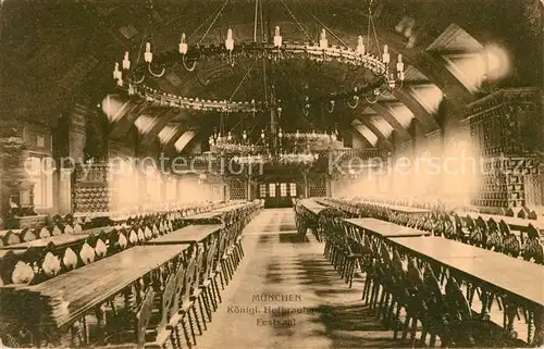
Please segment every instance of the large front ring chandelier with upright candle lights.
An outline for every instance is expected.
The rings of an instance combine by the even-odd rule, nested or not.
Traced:
[[[255,100],[218,101],[193,99],[164,94],[146,86],[145,79],[147,76],[162,77],[168,68],[176,65],[183,65],[187,71],[194,71],[198,62],[202,60],[226,61],[232,65],[239,60],[257,58],[265,58],[271,61],[306,59],[316,61],[320,64],[336,60],[351,67],[366,68],[372,73],[374,78],[370,82],[366,82],[363,85],[355,87],[350,91],[323,97],[308,97],[305,105],[302,105],[305,113],[307,113],[310,104],[316,102],[327,102],[329,110],[334,109],[334,102],[341,99],[346,100],[350,108],[356,108],[361,97],[364,97],[368,102],[373,103],[376,102],[383,94],[400,88],[403,86],[405,73],[401,54],[397,55],[396,64],[394,64],[392,62],[388,46],[384,45],[383,52],[381,51],[381,46],[375,36],[371,8],[372,1],[369,7],[367,45],[364,43],[363,36],[359,36],[357,47],[349,48],[325,26],[321,30],[318,40],[308,40],[305,42],[285,40],[279,26],[275,27],[272,42],[258,42],[257,40],[251,42],[236,42],[233,37],[232,28],[228,28],[226,30],[226,39],[224,42],[221,42],[221,45],[200,45],[203,37],[199,43],[190,45],[187,40],[187,36],[183,33],[178,46],[171,51],[153,53],[151,42],[146,42],[144,62],[133,64],[129,59],[129,52],[125,52],[122,64],[114,64],[113,79],[116,82],[116,85],[125,89],[128,95],[137,95],[149,102],[159,103],[161,105],[202,111],[256,112],[267,109],[268,103]],[[221,14],[221,11],[222,10],[218,13],[218,16]],[[296,21],[295,17],[294,20]],[[211,29],[213,24],[214,22],[210,24],[206,33]],[[331,45],[327,39],[327,33],[337,38],[342,46]],[[378,53],[369,51],[371,37],[374,37],[376,40],[375,46],[378,48]]]

